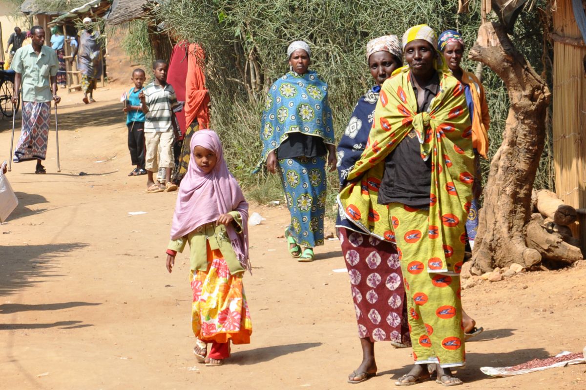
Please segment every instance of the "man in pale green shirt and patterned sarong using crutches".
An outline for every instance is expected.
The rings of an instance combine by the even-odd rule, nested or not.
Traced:
[[[55,51],[49,46],[44,46],[43,27],[33,26],[30,34],[32,44],[16,50],[11,66],[16,72],[13,104],[18,101],[19,89],[22,85],[21,137],[11,157],[15,163],[36,160],[35,173],[44,174],[46,171],[41,161],[45,160],[47,154],[51,101],[53,100],[55,104],[61,101],[61,98],[57,96],[59,62]]]

